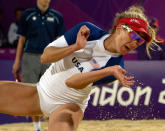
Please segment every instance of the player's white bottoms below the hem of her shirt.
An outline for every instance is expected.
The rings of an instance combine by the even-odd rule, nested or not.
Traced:
[[[46,116],[49,116],[55,109],[57,109],[58,107],[60,107],[64,104],[67,104],[67,103],[77,104],[83,112],[85,111],[85,109],[87,107],[88,100],[86,100],[85,104],[70,102],[69,100],[60,101],[58,98],[55,98],[55,97],[52,98],[52,97],[48,96],[46,94],[46,92],[40,87],[39,84],[37,84],[37,90],[38,90],[38,95],[39,95],[39,99],[40,99],[41,111]]]

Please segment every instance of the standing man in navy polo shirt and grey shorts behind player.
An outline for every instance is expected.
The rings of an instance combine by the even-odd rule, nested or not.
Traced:
[[[44,48],[57,37],[64,34],[65,26],[62,15],[49,8],[51,0],[37,0],[34,8],[23,12],[18,28],[18,45],[13,64],[13,74],[20,70],[22,57],[22,82],[37,83],[49,67],[41,64],[40,56]],[[41,131],[39,117],[32,117],[35,130]]]

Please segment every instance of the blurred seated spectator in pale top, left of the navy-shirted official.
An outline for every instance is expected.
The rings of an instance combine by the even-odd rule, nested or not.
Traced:
[[[8,41],[9,41],[10,47],[14,47],[14,48],[17,47],[17,43],[18,43],[17,30],[18,30],[18,25],[19,25],[23,11],[24,11],[23,8],[17,8],[14,11],[16,21],[11,23],[9,27],[9,31],[8,31]]]

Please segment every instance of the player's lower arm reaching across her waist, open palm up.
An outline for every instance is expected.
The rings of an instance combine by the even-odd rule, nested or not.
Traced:
[[[133,77],[127,77],[125,74],[126,71],[124,69],[118,65],[115,65],[102,70],[75,74],[68,78],[65,83],[70,88],[83,89],[90,83],[93,83],[106,76],[114,75],[123,86],[129,87],[134,84]]]

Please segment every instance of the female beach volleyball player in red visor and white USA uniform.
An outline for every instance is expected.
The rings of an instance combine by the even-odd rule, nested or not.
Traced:
[[[45,48],[41,62],[52,65],[37,85],[0,82],[0,112],[47,114],[49,131],[74,131],[83,118],[91,85],[115,79],[123,86],[133,85],[122,56],[144,43],[149,54],[154,40],[147,18],[135,6],[116,15],[110,34],[89,22],[78,24]]]

